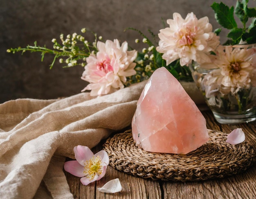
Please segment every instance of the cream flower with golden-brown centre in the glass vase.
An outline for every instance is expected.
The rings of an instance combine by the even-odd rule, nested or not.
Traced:
[[[237,93],[240,89],[256,86],[255,48],[219,46],[213,63],[218,69],[211,70],[201,83],[207,98],[218,93]]]

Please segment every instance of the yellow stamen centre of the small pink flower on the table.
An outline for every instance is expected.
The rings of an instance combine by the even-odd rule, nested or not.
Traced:
[[[102,173],[101,158],[99,156],[93,156],[90,160],[87,160],[84,165],[83,173],[90,181],[94,179],[96,174],[100,175]]]

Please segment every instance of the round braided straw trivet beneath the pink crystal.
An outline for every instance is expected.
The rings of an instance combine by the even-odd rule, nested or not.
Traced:
[[[227,134],[208,130],[210,140],[186,155],[146,152],[137,148],[128,130],[109,138],[104,150],[117,170],[153,180],[198,181],[238,174],[254,162],[254,150],[246,142],[231,145]]]

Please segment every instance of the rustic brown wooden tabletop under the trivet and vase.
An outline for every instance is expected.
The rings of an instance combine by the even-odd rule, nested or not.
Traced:
[[[245,140],[252,145],[256,152],[256,122],[243,123],[239,125],[220,125],[215,121],[210,111],[202,112],[207,128],[229,133],[235,128],[243,128]],[[102,143],[93,149],[97,152],[102,149]],[[246,172],[226,177],[225,179],[214,179],[193,182],[166,182],[152,181],[134,177],[115,170],[108,166],[103,179],[83,186],[79,177],[66,173],[67,182],[74,198],[81,199],[256,199],[256,163]],[[106,182],[119,178],[123,187],[121,192],[104,194],[97,190]]]

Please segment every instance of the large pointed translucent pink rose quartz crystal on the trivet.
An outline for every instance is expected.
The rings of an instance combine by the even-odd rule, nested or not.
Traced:
[[[209,140],[206,121],[165,67],[149,78],[132,119],[132,136],[149,152],[187,154]]]

